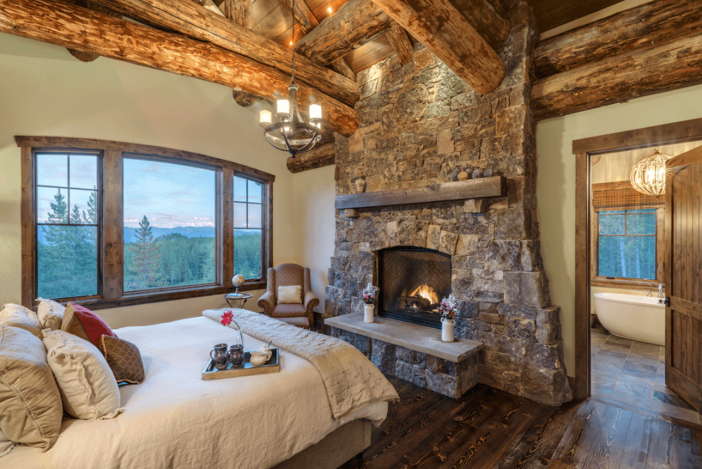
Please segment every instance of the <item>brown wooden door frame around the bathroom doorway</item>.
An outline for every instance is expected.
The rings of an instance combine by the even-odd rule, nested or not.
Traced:
[[[590,397],[590,157],[702,140],[702,118],[573,140],[575,170],[575,387]]]

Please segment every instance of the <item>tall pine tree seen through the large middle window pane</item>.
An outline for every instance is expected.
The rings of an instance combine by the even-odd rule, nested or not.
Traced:
[[[159,247],[154,243],[152,227],[146,216],[139,222],[136,241],[131,243],[128,249],[134,253],[134,275],[126,279],[128,289],[134,291],[164,286],[159,272],[161,254],[159,254]]]

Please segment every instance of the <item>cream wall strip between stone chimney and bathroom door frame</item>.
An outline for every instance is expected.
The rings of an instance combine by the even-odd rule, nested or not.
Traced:
[[[702,86],[661,93],[565,117],[536,128],[538,220],[551,300],[561,307],[565,362],[573,375],[575,157],[573,140],[702,117]]]

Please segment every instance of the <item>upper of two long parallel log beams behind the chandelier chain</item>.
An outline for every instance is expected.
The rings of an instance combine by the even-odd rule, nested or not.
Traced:
[[[200,8],[190,0],[95,0],[107,8],[123,11],[135,20],[172,29],[200,41],[211,42],[228,51],[270,65],[291,74],[290,49],[266,39],[223,16]],[[296,77],[347,105],[359,98],[358,85],[317,65],[303,55],[296,55]],[[286,92],[286,87],[281,89]]]

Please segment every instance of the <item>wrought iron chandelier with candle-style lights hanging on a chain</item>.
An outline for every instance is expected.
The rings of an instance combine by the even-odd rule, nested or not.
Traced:
[[[295,0],[293,13],[293,41],[295,39]],[[312,150],[314,144],[322,140],[322,106],[310,105],[310,122],[305,122],[298,108],[298,86],[295,84],[295,46],[291,45],[292,68],[291,81],[288,85],[289,98],[278,100],[273,122],[272,113],[263,110],[259,114],[258,125],[263,127],[263,135],[274,148],[289,152],[291,157]]]

